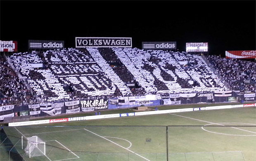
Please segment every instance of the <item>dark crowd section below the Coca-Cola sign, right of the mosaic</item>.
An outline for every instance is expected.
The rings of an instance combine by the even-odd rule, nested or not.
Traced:
[[[255,62],[243,59],[226,59],[216,55],[209,55],[207,59],[228,82],[232,90],[255,90]],[[250,83],[245,83],[244,80],[249,80]]]

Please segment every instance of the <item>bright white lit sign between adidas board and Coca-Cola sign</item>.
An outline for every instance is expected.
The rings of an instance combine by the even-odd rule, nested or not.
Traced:
[[[186,52],[208,52],[208,43],[186,43]]]

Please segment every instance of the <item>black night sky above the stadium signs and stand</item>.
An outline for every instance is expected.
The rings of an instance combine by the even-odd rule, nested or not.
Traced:
[[[208,42],[209,54],[256,50],[256,1],[6,1],[0,2],[0,40],[131,37],[142,41]]]

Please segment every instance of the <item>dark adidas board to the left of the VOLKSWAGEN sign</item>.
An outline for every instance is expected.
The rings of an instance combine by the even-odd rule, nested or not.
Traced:
[[[28,49],[63,49],[64,41],[28,40]]]

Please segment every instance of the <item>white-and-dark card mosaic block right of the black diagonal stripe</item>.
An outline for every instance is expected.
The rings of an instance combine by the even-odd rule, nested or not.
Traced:
[[[227,90],[201,56],[137,48],[113,50],[146,93]]]

